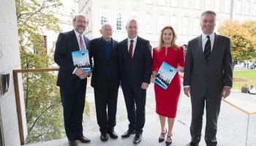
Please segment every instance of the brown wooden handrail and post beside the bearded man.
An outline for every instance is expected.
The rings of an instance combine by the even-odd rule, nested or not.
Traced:
[[[24,130],[23,130],[23,120],[21,114],[21,105],[20,105],[20,90],[18,84],[18,73],[24,72],[52,72],[52,71],[59,71],[59,69],[14,69],[13,72],[13,80],[14,80],[14,88],[15,88],[15,98],[16,98],[16,107],[18,113],[18,125],[20,131],[20,144],[25,145],[25,137],[24,137]]]

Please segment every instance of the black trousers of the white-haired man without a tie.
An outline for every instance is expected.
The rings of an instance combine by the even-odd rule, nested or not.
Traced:
[[[107,77],[102,89],[94,88],[97,123],[101,134],[106,134],[108,131],[114,131],[114,127],[116,126],[117,97],[118,88],[111,88],[109,77]]]

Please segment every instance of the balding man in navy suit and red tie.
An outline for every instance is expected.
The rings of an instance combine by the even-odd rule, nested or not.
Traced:
[[[146,88],[151,77],[151,50],[148,40],[138,37],[138,23],[127,21],[128,38],[118,43],[121,88],[127,107],[129,129],[121,137],[135,134],[133,143],[142,139],[145,124]]]

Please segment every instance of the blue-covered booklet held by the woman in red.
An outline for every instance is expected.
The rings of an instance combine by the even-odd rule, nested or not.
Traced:
[[[176,73],[177,69],[164,61],[156,74],[154,82],[166,90]]]

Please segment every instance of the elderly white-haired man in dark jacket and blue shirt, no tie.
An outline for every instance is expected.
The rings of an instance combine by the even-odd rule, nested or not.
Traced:
[[[100,139],[107,141],[107,133],[113,139],[118,138],[114,131],[118,88],[120,85],[118,42],[112,39],[113,29],[109,23],[102,24],[102,28],[99,31],[102,37],[91,40],[90,58],[94,58],[91,87],[94,88],[97,123],[101,132]],[[108,113],[106,112],[107,107]]]

